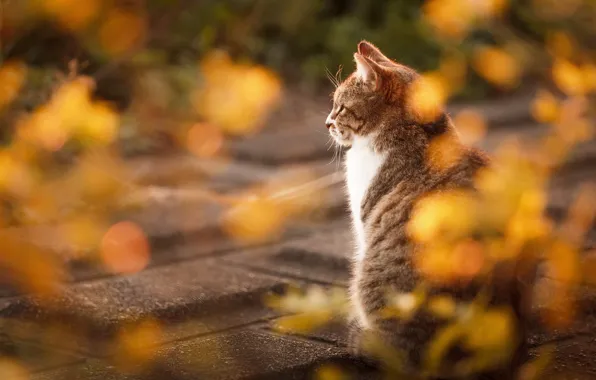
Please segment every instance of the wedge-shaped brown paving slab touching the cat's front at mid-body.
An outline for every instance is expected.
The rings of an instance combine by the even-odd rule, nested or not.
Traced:
[[[345,285],[352,251],[351,228],[345,221],[338,221],[308,237],[228,255],[222,260],[305,280]]]

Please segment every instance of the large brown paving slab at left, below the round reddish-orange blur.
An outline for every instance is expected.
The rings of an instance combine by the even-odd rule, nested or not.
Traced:
[[[262,307],[262,296],[284,283],[197,260],[75,284],[48,307],[25,297],[0,301],[0,316],[39,321],[41,328],[66,320],[91,337],[109,336],[125,322],[155,317],[174,325],[167,339],[179,339],[269,317],[272,312]]]

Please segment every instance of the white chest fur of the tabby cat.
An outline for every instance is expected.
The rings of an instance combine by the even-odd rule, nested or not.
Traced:
[[[375,178],[385,156],[372,149],[370,137],[355,137],[346,153],[346,183],[350,210],[356,232],[356,260],[361,261],[366,251],[364,224],[361,219],[362,201]]]

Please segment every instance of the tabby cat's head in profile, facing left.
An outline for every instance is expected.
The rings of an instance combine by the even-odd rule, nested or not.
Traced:
[[[350,146],[355,136],[374,133],[384,120],[417,123],[408,106],[412,83],[419,77],[413,69],[387,58],[369,42],[358,44],[356,70],[333,94],[333,109],[325,122],[335,141]]]

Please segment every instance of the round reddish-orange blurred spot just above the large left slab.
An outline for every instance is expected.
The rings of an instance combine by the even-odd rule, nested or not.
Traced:
[[[112,273],[140,272],[149,264],[149,242],[135,223],[118,222],[103,236],[100,256]]]

